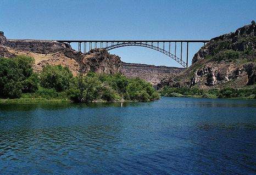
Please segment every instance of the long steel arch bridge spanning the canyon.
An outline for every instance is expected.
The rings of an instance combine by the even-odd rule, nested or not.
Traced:
[[[95,40],[95,41],[87,41],[87,40],[58,40],[58,42],[68,43],[78,43],[78,51],[86,53],[94,48],[105,48],[108,51],[127,46],[139,46],[146,47],[150,49],[157,50],[161,52],[171,59],[177,61],[177,63],[181,64],[183,67],[188,67],[188,49],[190,43],[207,43],[209,40]],[[174,45],[173,47],[171,47]],[[183,46],[185,45],[185,46]],[[177,48],[179,47],[179,48]],[[186,49],[186,58],[184,58],[183,47]],[[84,48],[84,49],[82,49]],[[179,49],[179,55],[177,55],[177,49]]]

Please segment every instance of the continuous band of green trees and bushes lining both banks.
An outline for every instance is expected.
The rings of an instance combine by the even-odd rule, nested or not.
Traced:
[[[47,65],[36,73],[32,70],[33,64],[31,57],[0,58],[0,104],[153,101],[160,99],[160,95],[256,99],[255,86],[209,90],[165,86],[156,91],[152,84],[140,78],[93,72],[73,76],[68,67],[60,65]]]

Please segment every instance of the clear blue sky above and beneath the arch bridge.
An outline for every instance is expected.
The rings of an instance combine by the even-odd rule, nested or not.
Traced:
[[[0,1],[0,31],[13,39],[210,39],[252,20],[255,0]],[[190,44],[190,64],[202,46]],[[149,48],[122,47],[110,53],[127,63],[181,67]]]

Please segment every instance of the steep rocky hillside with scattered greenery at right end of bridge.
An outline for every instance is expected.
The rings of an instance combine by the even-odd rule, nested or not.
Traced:
[[[165,78],[158,87],[243,88],[255,84],[256,29],[247,25],[210,40],[181,74]]]

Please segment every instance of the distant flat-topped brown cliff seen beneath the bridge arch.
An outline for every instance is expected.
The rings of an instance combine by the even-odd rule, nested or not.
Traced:
[[[163,77],[170,74],[179,74],[183,68],[155,66],[147,64],[122,63],[121,73],[127,77],[139,77],[157,85]]]

